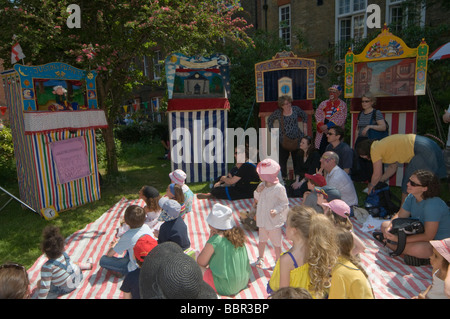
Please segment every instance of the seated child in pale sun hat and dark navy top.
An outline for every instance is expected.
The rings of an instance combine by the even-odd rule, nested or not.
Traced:
[[[158,237],[158,244],[173,241],[180,245],[183,250],[190,248],[191,241],[189,240],[187,226],[180,216],[180,203],[164,196],[159,200],[159,206],[162,209],[159,220],[163,223],[159,231],[155,232]]]

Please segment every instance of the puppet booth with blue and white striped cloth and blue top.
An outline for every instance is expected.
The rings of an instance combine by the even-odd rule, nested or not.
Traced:
[[[229,66],[219,53],[173,53],[165,60],[171,166],[186,172],[186,183],[226,175]]]

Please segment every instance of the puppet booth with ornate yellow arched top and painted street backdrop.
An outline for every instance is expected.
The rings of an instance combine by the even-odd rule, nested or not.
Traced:
[[[386,25],[361,52],[351,49],[345,56],[345,97],[351,99],[351,142],[355,144],[361,96],[371,92],[374,106],[389,125],[389,135],[417,132],[418,95],[425,94],[428,45],[424,40],[409,48]],[[391,186],[400,186],[406,164],[399,164],[391,177]]]

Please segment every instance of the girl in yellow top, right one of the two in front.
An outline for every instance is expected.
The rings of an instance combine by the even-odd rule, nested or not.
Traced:
[[[367,273],[353,255],[354,237],[342,226],[336,228],[339,258],[331,272],[328,299],[374,299]]]

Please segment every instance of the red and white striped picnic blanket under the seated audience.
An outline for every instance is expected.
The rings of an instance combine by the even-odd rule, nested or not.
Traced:
[[[253,200],[199,200],[194,199],[193,211],[186,215],[185,222],[189,230],[191,248],[197,251],[206,244],[209,237],[209,228],[206,216],[215,203],[229,205],[233,209],[233,218],[236,224],[240,224],[239,212],[251,209]],[[301,200],[289,199],[290,206],[300,205]],[[120,218],[129,205],[144,206],[142,200],[127,200],[122,198],[111,207],[98,220],[88,224],[66,239],[66,252],[74,262],[85,262],[92,258],[94,266],[91,270],[83,271],[83,281],[73,292],[63,295],[61,299],[119,299],[121,298],[120,286],[123,278],[115,277],[110,271],[101,268],[98,262],[102,255],[109,249],[109,243],[113,240]],[[378,242],[374,241],[370,232],[362,230],[362,224],[352,218],[355,233],[366,244],[366,250],[361,254],[362,266],[366,269],[369,280],[377,299],[409,299],[425,290],[431,284],[431,266],[413,267],[407,266],[399,257],[392,258]],[[250,262],[258,257],[258,233],[245,230],[248,237],[247,251]],[[286,240],[285,228],[282,229],[282,251],[286,251],[291,244]],[[266,286],[275,265],[274,250],[270,241],[266,248],[265,263],[262,268],[252,267],[252,274],[248,288],[242,290],[233,297],[234,299],[265,299],[267,298]],[[37,295],[36,283],[40,279],[40,269],[47,258],[40,256],[29,269],[32,298]]]

